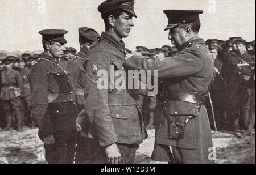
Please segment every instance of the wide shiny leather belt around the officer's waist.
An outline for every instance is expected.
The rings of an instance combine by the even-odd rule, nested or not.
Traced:
[[[167,101],[184,101],[204,105],[205,94],[201,92],[165,91]],[[162,98],[162,97],[161,97]]]

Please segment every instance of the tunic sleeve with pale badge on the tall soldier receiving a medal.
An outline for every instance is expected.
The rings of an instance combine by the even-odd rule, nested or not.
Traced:
[[[117,142],[118,138],[110,115],[108,89],[97,88],[97,81],[104,76],[97,77],[96,70],[107,70],[109,73],[110,59],[102,50],[100,52],[95,50],[90,53],[88,58],[90,61],[85,69],[85,109],[88,115],[94,119],[98,143],[101,147],[105,147]]]

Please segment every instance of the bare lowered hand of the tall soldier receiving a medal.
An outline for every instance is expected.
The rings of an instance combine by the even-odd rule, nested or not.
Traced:
[[[108,163],[121,163],[121,153],[115,143],[105,148],[105,154]]]

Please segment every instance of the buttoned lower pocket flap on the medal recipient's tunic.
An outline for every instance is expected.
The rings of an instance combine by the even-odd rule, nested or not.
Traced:
[[[112,118],[129,119],[130,113],[127,108],[123,106],[109,106],[110,114]]]

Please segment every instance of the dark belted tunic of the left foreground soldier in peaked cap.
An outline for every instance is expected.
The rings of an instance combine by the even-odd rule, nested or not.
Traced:
[[[31,110],[39,126],[39,138],[76,130],[76,104],[69,73],[59,60],[43,53],[28,76]]]

